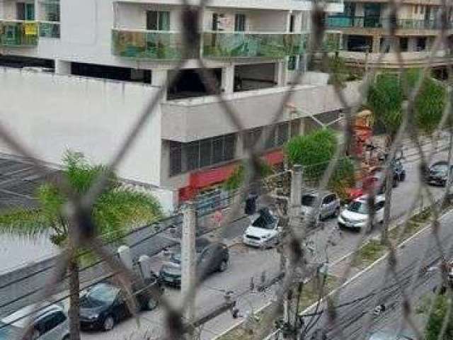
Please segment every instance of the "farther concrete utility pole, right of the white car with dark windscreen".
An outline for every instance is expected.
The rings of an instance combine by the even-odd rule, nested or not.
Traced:
[[[282,272],[287,275],[289,273],[289,265],[291,264],[288,259],[287,254],[287,247],[285,247],[285,242],[287,242],[287,238],[289,237],[289,228],[292,228],[294,232],[299,234],[299,230],[297,230],[297,225],[300,219],[301,214],[301,202],[302,200],[302,166],[297,164],[294,165],[292,169],[292,177],[291,177],[291,192],[289,193],[289,209],[287,209],[289,213],[289,225],[285,225],[284,227],[287,228],[283,232],[283,239],[282,242],[284,243],[282,246],[282,250],[280,252],[280,269]],[[290,292],[289,294],[285,294],[283,297],[283,321],[286,325],[289,325],[291,322],[290,320],[290,299],[288,295],[292,295]]]

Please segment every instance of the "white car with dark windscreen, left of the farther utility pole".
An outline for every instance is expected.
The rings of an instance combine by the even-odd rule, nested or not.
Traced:
[[[243,233],[242,242],[248,246],[273,246],[279,242],[279,219],[268,208],[261,208],[253,216],[251,225]]]

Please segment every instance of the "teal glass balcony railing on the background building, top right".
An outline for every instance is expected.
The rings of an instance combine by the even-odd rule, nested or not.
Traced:
[[[389,28],[391,23],[391,18],[379,16],[331,16],[327,18],[326,26],[328,28]],[[398,19],[396,27],[410,30],[438,30],[441,28],[441,23],[435,20]]]

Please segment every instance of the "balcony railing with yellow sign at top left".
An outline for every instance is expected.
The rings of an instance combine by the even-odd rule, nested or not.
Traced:
[[[0,20],[0,45],[11,47],[38,45],[38,23]]]

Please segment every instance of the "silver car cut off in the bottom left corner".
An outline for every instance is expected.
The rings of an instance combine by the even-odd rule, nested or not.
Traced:
[[[60,305],[48,305],[38,309],[24,307],[0,322],[0,340],[19,339],[31,323],[30,340],[69,340],[68,317]],[[30,314],[30,315],[29,315]]]

